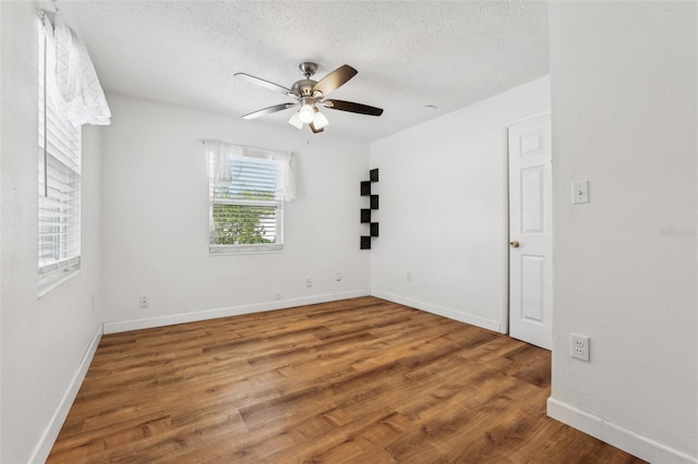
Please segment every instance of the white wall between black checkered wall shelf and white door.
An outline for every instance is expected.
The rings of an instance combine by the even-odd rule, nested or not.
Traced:
[[[506,332],[505,129],[547,110],[543,77],[371,144],[374,295]]]

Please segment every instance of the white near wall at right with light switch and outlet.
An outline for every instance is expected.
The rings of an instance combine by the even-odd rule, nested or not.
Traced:
[[[698,462],[697,4],[552,2],[555,303],[549,413]],[[570,183],[590,203],[573,206]],[[591,337],[591,362],[568,356]]]

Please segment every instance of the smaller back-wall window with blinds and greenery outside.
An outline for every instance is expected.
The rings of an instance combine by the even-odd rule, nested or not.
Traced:
[[[288,152],[205,141],[209,169],[209,253],[284,249]]]

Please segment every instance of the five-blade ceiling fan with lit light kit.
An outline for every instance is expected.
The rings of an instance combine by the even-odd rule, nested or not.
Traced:
[[[236,76],[244,77],[245,80],[266,89],[287,95],[294,99],[294,101],[288,103],[275,105],[269,108],[264,108],[244,114],[242,118],[254,119],[300,106],[300,109],[291,115],[291,119],[289,119],[289,124],[298,127],[299,130],[303,129],[303,124],[308,124],[311,131],[318,133],[323,132],[324,127],[329,124],[327,118],[320,112],[318,107],[375,117],[383,114],[383,110],[381,108],[354,103],[353,101],[326,98],[330,93],[335,91],[337,88],[345,85],[351,77],[357,75],[358,71],[350,65],[345,64],[339,66],[320,81],[313,81],[311,78],[317,71],[316,63],[305,61],[299,64],[298,68],[305,77],[294,82],[291,88],[286,88],[282,85],[274,84],[273,82],[265,81],[250,74],[236,73]]]

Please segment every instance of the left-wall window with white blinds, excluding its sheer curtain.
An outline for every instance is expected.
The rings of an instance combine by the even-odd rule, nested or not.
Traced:
[[[56,105],[39,34],[38,269],[45,293],[80,269],[81,127]],[[50,68],[49,68],[50,69]],[[48,85],[47,85],[48,83]]]

